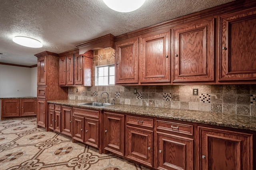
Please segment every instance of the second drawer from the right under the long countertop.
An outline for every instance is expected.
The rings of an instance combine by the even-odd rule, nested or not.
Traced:
[[[154,119],[148,119],[144,117],[127,116],[127,124],[140,125],[143,127],[154,127]]]

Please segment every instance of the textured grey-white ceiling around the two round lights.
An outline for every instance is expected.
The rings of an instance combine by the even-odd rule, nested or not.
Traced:
[[[121,35],[231,1],[146,0],[138,10],[120,13],[102,0],[0,0],[0,62],[31,66],[42,51],[62,53],[109,33]],[[15,44],[18,35],[38,39],[43,47]]]

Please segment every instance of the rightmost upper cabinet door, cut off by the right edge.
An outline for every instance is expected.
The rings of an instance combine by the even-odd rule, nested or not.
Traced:
[[[220,81],[256,80],[256,11],[220,17]]]

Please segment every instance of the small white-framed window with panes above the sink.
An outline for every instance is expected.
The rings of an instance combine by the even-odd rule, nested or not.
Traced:
[[[108,86],[115,84],[115,65],[98,66],[95,70],[98,70],[96,86]]]

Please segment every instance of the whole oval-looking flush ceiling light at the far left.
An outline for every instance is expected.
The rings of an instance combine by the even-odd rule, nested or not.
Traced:
[[[31,47],[31,48],[43,47],[40,41],[30,37],[16,36],[16,37],[13,37],[12,41],[14,41],[14,43],[23,45],[25,47]]]

